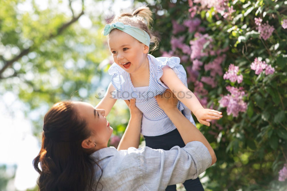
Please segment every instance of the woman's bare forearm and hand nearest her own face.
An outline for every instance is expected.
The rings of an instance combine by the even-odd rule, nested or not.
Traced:
[[[135,106],[135,99],[125,100],[125,102],[129,107],[131,117],[117,148],[118,151],[129,147],[138,148],[141,134],[142,112]]]

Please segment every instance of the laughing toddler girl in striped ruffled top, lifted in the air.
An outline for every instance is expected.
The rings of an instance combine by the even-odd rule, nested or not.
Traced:
[[[146,146],[169,150],[185,144],[174,124],[158,106],[154,96],[170,89],[177,96],[179,110],[194,125],[191,111],[201,124],[222,117],[221,112],[204,109],[195,95],[187,88],[187,76],[178,57],[155,58],[150,51],[158,46],[158,40],[149,30],[152,12],[139,7],[133,13],[114,17],[104,28],[108,46],[115,63],[108,70],[112,75],[107,93],[96,108],[105,109],[107,116],[117,99],[136,99],[136,106],[143,113],[141,133]],[[203,190],[199,178],[187,180],[186,190]],[[175,185],[166,190],[176,190]]]

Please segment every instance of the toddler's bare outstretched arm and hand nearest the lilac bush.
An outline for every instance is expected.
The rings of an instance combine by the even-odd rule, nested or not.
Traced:
[[[210,112],[215,112],[222,114],[219,111],[204,109],[200,104],[196,96],[190,91],[177,77],[175,72],[168,66],[162,68],[163,74],[160,80],[165,83],[169,89],[174,91],[177,99],[183,104],[185,104],[196,116],[197,120],[204,125],[210,126],[210,123],[207,120],[212,120],[213,116],[210,115]],[[222,117],[222,116],[221,116]],[[221,118],[220,117],[220,118]]]

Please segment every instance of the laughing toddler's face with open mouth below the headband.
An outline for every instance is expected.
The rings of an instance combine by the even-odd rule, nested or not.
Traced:
[[[149,50],[144,43],[118,29],[109,34],[108,46],[114,62],[128,73],[135,72],[146,61]]]

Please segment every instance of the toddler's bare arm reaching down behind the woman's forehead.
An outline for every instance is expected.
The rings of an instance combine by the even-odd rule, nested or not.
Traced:
[[[105,116],[107,116],[110,113],[110,110],[112,109],[112,107],[115,105],[117,101],[117,99],[114,99],[112,97],[112,93],[114,90],[115,88],[113,87],[112,83],[110,83],[108,86],[107,92],[104,95],[104,98],[95,107],[97,109],[104,109],[106,111]]]

